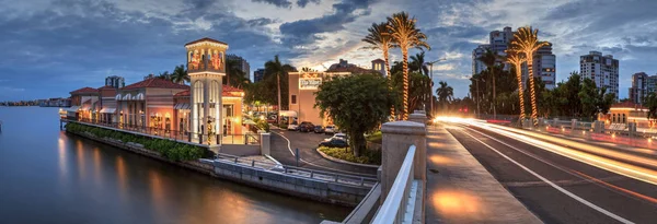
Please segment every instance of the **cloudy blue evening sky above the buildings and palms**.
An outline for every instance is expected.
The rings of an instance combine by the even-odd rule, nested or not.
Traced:
[[[620,97],[636,72],[657,74],[654,0],[0,0],[0,101],[69,96],[126,84],[185,61],[184,45],[203,37],[229,44],[251,71],[279,55],[297,68],[324,70],[338,59],[369,68],[381,52],[365,49],[372,23],[394,12],[417,19],[431,50],[434,80],[468,95],[472,50],[488,33],[539,28],[553,43],[557,82],[591,50],[620,60]],[[418,52],[412,50],[411,55]],[[391,60],[401,60],[399,49]]]

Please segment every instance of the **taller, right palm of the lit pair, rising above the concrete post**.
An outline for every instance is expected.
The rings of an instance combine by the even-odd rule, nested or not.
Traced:
[[[392,17],[388,17],[390,36],[394,40],[394,44],[402,49],[402,57],[404,58],[404,106],[402,110],[402,120],[408,119],[408,48],[418,48],[420,50],[423,48],[431,49],[425,42],[427,35],[415,27],[415,17],[408,17],[408,13],[406,12],[394,13],[392,14]]]

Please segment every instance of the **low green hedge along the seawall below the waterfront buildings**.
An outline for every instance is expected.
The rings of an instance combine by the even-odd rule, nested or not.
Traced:
[[[111,138],[120,140],[124,143],[134,142],[143,145],[145,149],[155,151],[170,161],[194,161],[198,158],[215,157],[215,153],[206,148],[194,146],[185,143],[178,143],[171,140],[152,139],[148,137],[124,133],[120,131],[107,130],[80,123],[67,123],[66,130],[72,133],[89,132],[96,138]]]

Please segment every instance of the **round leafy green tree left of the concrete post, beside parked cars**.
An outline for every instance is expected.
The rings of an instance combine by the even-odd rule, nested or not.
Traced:
[[[388,81],[376,74],[336,76],[323,82],[319,89],[314,107],[320,108],[322,117],[328,116],[347,131],[349,146],[356,156],[366,148],[364,134],[388,119],[390,107],[399,98]]]

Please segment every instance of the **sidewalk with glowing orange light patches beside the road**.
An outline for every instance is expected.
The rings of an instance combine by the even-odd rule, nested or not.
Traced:
[[[445,128],[427,133],[426,223],[542,223]]]

